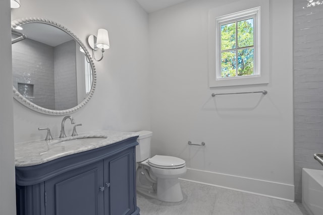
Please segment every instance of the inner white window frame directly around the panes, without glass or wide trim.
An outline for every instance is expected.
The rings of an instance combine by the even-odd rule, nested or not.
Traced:
[[[250,10],[246,11],[241,11],[238,13],[230,14],[227,16],[223,17],[218,17],[216,18],[216,23],[217,23],[217,31],[216,31],[216,36],[217,36],[217,53],[216,53],[216,59],[217,59],[217,68],[216,68],[216,80],[225,80],[225,79],[242,79],[242,78],[250,78],[250,77],[259,77],[260,76],[260,71],[259,71],[259,12],[260,12],[260,7],[253,8]],[[235,77],[222,77],[222,31],[221,31],[221,26],[230,24],[230,23],[236,23],[236,41],[238,40],[238,26],[237,22],[251,19],[253,18],[253,75],[249,76],[235,76]],[[237,44],[235,50],[238,51]],[[241,48],[243,49],[243,48]],[[236,56],[238,55],[238,52],[236,53]],[[236,65],[238,64],[237,58],[236,58]],[[238,67],[236,66],[236,70]]]

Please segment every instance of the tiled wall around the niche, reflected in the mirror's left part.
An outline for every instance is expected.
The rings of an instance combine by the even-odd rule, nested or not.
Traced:
[[[32,84],[36,105],[55,109],[54,48],[44,43],[25,39],[12,45],[13,85]]]

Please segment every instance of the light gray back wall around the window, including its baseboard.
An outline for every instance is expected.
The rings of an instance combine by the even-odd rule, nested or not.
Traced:
[[[293,200],[293,0],[270,1],[270,83],[209,88],[208,13],[241,11],[244,1],[235,2],[187,1],[149,14],[151,153],[184,159],[188,180]]]

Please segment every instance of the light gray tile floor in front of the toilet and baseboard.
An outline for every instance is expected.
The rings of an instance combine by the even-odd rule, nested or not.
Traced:
[[[140,215],[309,215],[302,204],[181,180],[184,199],[171,203],[137,193]]]

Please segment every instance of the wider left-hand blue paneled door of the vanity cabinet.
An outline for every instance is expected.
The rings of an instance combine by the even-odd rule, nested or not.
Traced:
[[[45,181],[46,215],[103,215],[103,161]]]

